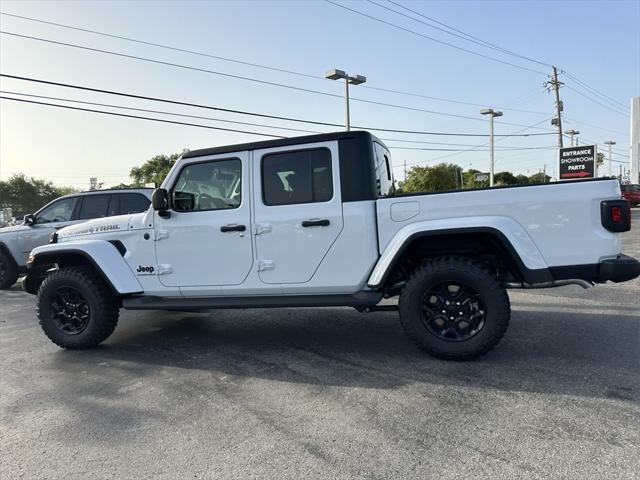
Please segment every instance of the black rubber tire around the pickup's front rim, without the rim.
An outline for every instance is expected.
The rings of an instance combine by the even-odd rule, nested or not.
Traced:
[[[71,288],[89,308],[86,327],[79,333],[63,331],[54,320],[56,292]],[[50,273],[38,289],[37,313],[40,326],[49,339],[62,348],[80,350],[96,347],[106,340],[118,324],[119,302],[104,280],[88,267],[61,268]]]

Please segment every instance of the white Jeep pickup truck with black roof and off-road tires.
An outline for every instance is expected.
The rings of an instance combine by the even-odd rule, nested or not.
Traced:
[[[105,340],[120,308],[351,306],[397,309],[424,351],[463,360],[504,335],[507,288],[640,275],[620,252],[630,213],[616,180],[393,192],[389,152],[368,132],[191,151],[146,213],[35,248],[24,286],[64,348]]]

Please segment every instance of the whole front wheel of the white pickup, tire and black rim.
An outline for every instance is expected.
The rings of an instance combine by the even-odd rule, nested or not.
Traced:
[[[118,324],[117,297],[90,268],[68,267],[49,274],[38,289],[40,326],[56,345],[97,346]]]

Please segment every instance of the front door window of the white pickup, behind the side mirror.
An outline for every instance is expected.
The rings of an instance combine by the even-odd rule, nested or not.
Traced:
[[[214,160],[187,165],[172,191],[177,212],[238,208],[242,202],[242,162]]]

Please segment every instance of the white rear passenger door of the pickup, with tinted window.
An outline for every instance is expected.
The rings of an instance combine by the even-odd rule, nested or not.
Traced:
[[[337,142],[254,151],[257,268],[264,283],[311,280],[342,231]]]

